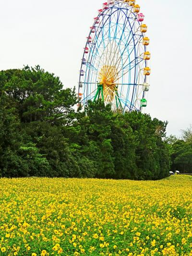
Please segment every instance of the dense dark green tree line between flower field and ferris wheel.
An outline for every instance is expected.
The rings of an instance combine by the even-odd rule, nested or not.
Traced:
[[[101,101],[75,111],[75,90],[62,87],[39,66],[0,72],[1,177],[168,176],[167,122]]]

